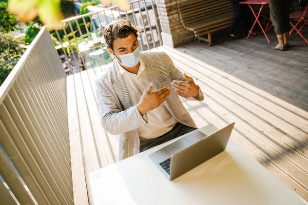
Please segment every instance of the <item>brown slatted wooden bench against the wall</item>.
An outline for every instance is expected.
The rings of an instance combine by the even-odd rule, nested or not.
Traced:
[[[178,5],[185,29],[194,31],[198,40],[212,44],[211,33],[229,27],[233,10],[229,0],[196,0]],[[207,38],[201,37],[207,34]]]

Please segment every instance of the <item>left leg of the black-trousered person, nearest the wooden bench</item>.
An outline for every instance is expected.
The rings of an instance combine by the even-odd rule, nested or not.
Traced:
[[[239,4],[238,0],[230,0],[233,8],[233,18],[230,24],[230,30],[228,36],[238,38],[238,32],[240,28],[240,21],[241,21],[241,5]]]

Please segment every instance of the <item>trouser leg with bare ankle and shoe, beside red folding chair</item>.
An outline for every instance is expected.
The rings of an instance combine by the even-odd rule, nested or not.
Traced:
[[[284,0],[283,0],[284,1]],[[274,25],[275,33],[277,35],[278,44],[273,47],[275,50],[284,51],[283,34],[284,34],[284,22],[283,22],[283,5],[281,0],[269,0],[269,13],[271,15],[271,21]]]

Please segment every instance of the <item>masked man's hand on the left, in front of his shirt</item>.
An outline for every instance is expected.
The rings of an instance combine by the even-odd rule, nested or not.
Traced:
[[[144,115],[148,111],[154,110],[159,107],[171,93],[171,89],[168,87],[162,88],[156,92],[152,92],[154,84],[151,83],[149,88],[141,96],[137,108],[141,115]]]

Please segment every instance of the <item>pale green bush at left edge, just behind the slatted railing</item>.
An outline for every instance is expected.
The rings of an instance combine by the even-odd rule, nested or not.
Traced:
[[[22,40],[0,29],[0,86],[25,52],[20,46],[22,43]]]

